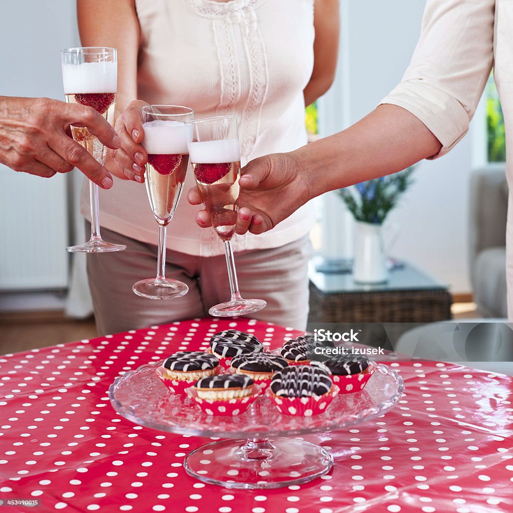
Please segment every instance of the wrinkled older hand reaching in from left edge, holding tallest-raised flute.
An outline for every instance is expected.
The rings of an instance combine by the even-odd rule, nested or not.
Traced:
[[[87,127],[109,148],[120,145],[114,129],[91,107],[49,98],[0,97],[0,162],[45,178],[77,167],[109,189],[110,173],[73,141],[70,125]]]

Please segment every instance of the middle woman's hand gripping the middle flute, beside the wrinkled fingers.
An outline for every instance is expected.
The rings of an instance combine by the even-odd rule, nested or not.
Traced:
[[[140,184],[144,182],[144,165],[148,162],[148,154],[141,145],[144,139],[141,108],[145,105],[148,104],[142,100],[134,100],[117,118],[115,128],[121,139],[121,148],[112,152],[123,172],[121,177]]]

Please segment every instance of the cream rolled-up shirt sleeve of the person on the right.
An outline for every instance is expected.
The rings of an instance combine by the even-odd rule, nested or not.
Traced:
[[[382,104],[417,116],[451,150],[467,133],[494,60],[496,0],[427,0],[419,43]]]

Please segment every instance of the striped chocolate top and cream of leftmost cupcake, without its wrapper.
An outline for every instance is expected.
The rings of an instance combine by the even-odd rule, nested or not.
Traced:
[[[163,376],[173,380],[198,380],[215,374],[219,360],[203,351],[179,351],[162,364]]]

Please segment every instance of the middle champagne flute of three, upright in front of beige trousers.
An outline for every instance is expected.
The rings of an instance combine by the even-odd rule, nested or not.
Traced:
[[[159,225],[159,256],[156,278],[141,280],[132,290],[143,298],[181,298],[189,291],[185,283],[166,278],[166,229],[173,218],[189,164],[185,121],[193,111],[177,105],[149,105],[142,108],[144,140],[148,153],[146,191],[155,221]]]

